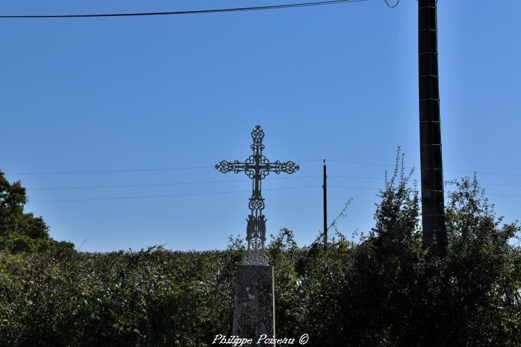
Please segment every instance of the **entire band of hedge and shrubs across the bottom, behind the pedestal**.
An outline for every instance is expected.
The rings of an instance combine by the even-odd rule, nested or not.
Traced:
[[[463,178],[447,199],[448,255],[431,257],[409,178],[396,170],[386,179],[367,236],[338,233],[324,249],[299,247],[288,229],[272,235],[279,337],[520,346],[519,224],[504,224],[476,178]],[[3,346],[207,346],[231,335],[240,238],[225,251],[10,251],[0,253]]]

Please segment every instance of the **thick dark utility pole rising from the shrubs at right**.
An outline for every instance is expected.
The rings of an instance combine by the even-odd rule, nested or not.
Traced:
[[[431,249],[433,255],[445,257],[447,231],[443,201],[437,2],[418,0],[422,241],[425,247]]]

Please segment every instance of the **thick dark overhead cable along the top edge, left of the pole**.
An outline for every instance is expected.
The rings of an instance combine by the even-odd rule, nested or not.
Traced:
[[[239,11],[252,11],[252,10],[275,10],[279,8],[296,8],[306,6],[322,6],[322,5],[333,5],[336,3],[349,3],[349,2],[361,2],[367,0],[331,0],[331,1],[315,1],[306,3],[289,3],[285,5],[273,5],[273,6],[256,6],[256,7],[243,7],[243,8],[219,8],[213,10],[190,10],[190,11],[173,11],[173,12],[135,12],[135,13],[104,13],[94,15],[0,15],[0,18],[85,18],[85,17],[142,17],[142,16],[163,16],[163,15],[200,15],[203,13],[216,13],[216,12],[239,12]]]

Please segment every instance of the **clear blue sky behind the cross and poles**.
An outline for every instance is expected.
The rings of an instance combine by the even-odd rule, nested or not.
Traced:
[[[34,0],[4,1],[0,12],[281,3]],[[506,221],[521,217],[520,12],[514,0],[438,1],[445,179],[478,171]],[[256,124],[265,129],[267,158],[300,164],[297,174],[270,174],[263,184],[267,233],[290,228],[300,245],[322,229],[322,158],[330,160],[329,185],[357,187],[328,191],[329,221],[354,199],[338,221],[349,236],[373,226],[377,189],[397,146],[406,166],[419,165],[414,0],[394,9],[368,0],[206,15],[0,19],[0,47],[0,169],[11,182],[22,180],[26,211],[44,217],[51,237],[76,246],[88,239],[83,251],[221,249],[229,235],[244,236],[251,185],[244,174],[213,166],[245,160]],[[180,167],[192,169],[172,169]],[[147,171],[121,171],[133,169]],[[70,174],[78,171],[115,172]],[[51,172],[69,174],[42,174]],[[114,185],[133,187],[99,187]],[[42,189],[74,187],[90,188]],[[300,188],[279,189],[288,187]],[[192,195],[41,202],[180,194]]]

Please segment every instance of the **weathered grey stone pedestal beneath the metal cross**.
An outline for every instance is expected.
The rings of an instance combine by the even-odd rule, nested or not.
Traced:
[[[233,296],[233,335],[258,341],[275,336],[273,266],[241,265]]]

